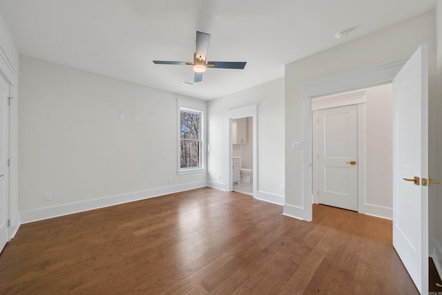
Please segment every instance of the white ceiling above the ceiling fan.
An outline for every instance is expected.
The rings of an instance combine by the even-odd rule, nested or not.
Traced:
[[[436,0],[0,0],[23,55],[200,99],[284,75],[284,65],[434,9]],[[340,30],[352,28],[345,39]],[[193,81],[195,31],[211,34],[209,68]]]

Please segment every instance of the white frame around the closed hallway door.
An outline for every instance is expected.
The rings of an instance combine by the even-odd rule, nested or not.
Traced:
[[[315,97],[311,99],[311,132],[312,132],[312,193],[311,202],[318,203],[318,159],[314,157],[314,152],[318,153],[318,124],[315,124],[318,118],[318,111],[325,108],[338,108],[340,106],[356,105],[358,107],[358,212],[365,213],[365,103],[367,90],[361,89],[347,93],[338,93],[336,95],[327,95],[322,97]],[[316,116],[316,117],[315,117]],[[316,132],[315,132],[316,131]],[[316,173],[315,173],[316,172]],[[315,195],[316,193],[316,195]]]

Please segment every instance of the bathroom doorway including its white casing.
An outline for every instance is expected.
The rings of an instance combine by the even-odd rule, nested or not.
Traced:
[[[227,113],[227,191],[246,193],[253,198],[258,182],[257,108],[256,105],[244,106]]]

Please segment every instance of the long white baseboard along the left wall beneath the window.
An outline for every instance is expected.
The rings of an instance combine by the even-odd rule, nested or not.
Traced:
[[[148,198],[155,198],[157,196],[164,196],[169,193],[177,193],[179,191],[188,191],[189,189],[198,189],[200,187],[206,187],[206,181],[191,182],[186,184],[179,184],[173,187],[162,187],[160,189],[151,189],[148,191],[138,191],[135,193],[126,193],[119,196],[110,196],[106,198],[99,198],[95,200],[87,200],[84,202],[77,202],[71,204],[62,204],[55,207],[47,207],[29,211],[20,212],[20,222],[28,223],[38,220],[44,220],[48,218],[55,218],[59,216],[65,216],[73,213],[79,213],[89,211],[93,209],[99,209],[104,207],[113,206],[116,204],[123,204],[127,202],[133,202],[137,200],[144,200]]]

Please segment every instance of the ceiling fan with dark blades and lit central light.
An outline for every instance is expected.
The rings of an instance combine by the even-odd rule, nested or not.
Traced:
[[[193,66],[195,77],[193,82],[201,82],[202,74],[207,68],[236,68],[242,70],[247,61],[206,61],[207,48],[209,47],[210,35],[205,32],[196,32],[196,50],[193,55],[193,63],[186,61],[161,61],[154,60],[154,64],[177,64]]]

